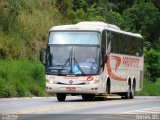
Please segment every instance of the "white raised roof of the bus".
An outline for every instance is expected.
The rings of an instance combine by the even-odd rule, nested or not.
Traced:
[[[79,22],[77,24],[54,26],[50,29],[50,31],[79,31],[79,30],[100,31],[100,32],[103,30],[109,30],[112,32],[117,32],[129,36],[142,38],[140,34],[125,32],[116,25],[106,24],[104,22],[98,22],[98,21],[95,22],[84,21],[84,22]]]

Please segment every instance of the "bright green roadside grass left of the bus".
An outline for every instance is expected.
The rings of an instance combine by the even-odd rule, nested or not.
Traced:
[[[0,98],[46,95],[45,70],[38,60],[0,60]]]

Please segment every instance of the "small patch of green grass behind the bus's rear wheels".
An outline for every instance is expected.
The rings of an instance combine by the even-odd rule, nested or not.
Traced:
[[[137,96],[160,96],[160,79],[156,82],[145,79],[143,89],[136,93]]]

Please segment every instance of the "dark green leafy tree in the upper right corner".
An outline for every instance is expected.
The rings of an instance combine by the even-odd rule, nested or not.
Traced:
[[[141,33],[153,48],[160,50],[156,47],[160,36],[160,12],[151,1],[137,0],[123,12],[123,18],[125,30]]]

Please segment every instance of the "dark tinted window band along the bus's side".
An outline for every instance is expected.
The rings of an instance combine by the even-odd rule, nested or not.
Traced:
[[[111,52],[141,56],[143,54],[143,40],[137,37],[128,36],[116,32],[107,32],[107,47],[111,43]]]

